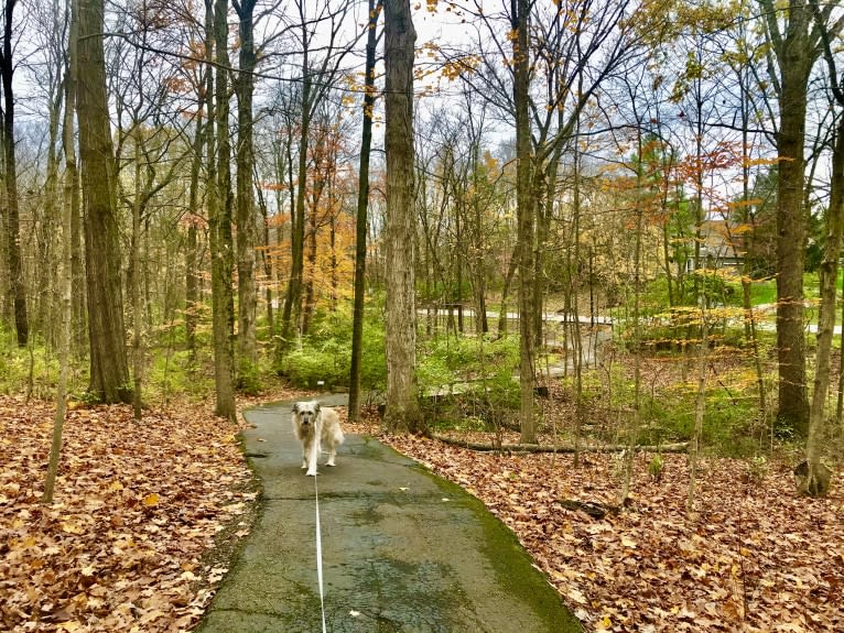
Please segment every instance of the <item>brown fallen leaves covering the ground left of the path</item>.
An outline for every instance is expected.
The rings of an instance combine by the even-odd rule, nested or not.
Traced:
[[[190,405],[69,411],[43,505],[53,412],[0,396],[0,630],[188,629],[226,571],[203,554],[249,528],[238,429]]]

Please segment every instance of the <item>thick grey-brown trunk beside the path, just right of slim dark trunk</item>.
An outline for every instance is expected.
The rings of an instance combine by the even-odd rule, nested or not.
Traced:
[[[385,1],[387,410],[391,430],[422,429],[416,386],[413,43],[410,0]]]

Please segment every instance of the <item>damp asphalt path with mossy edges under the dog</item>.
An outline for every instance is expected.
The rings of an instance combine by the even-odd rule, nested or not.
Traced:
[[[320,633],[314,478],[300,469],[290,404],[246,417],[262,511],[197,631]],[[316,483],[326,631],[581,631],[512,533],[414,461],[347,435]]]

